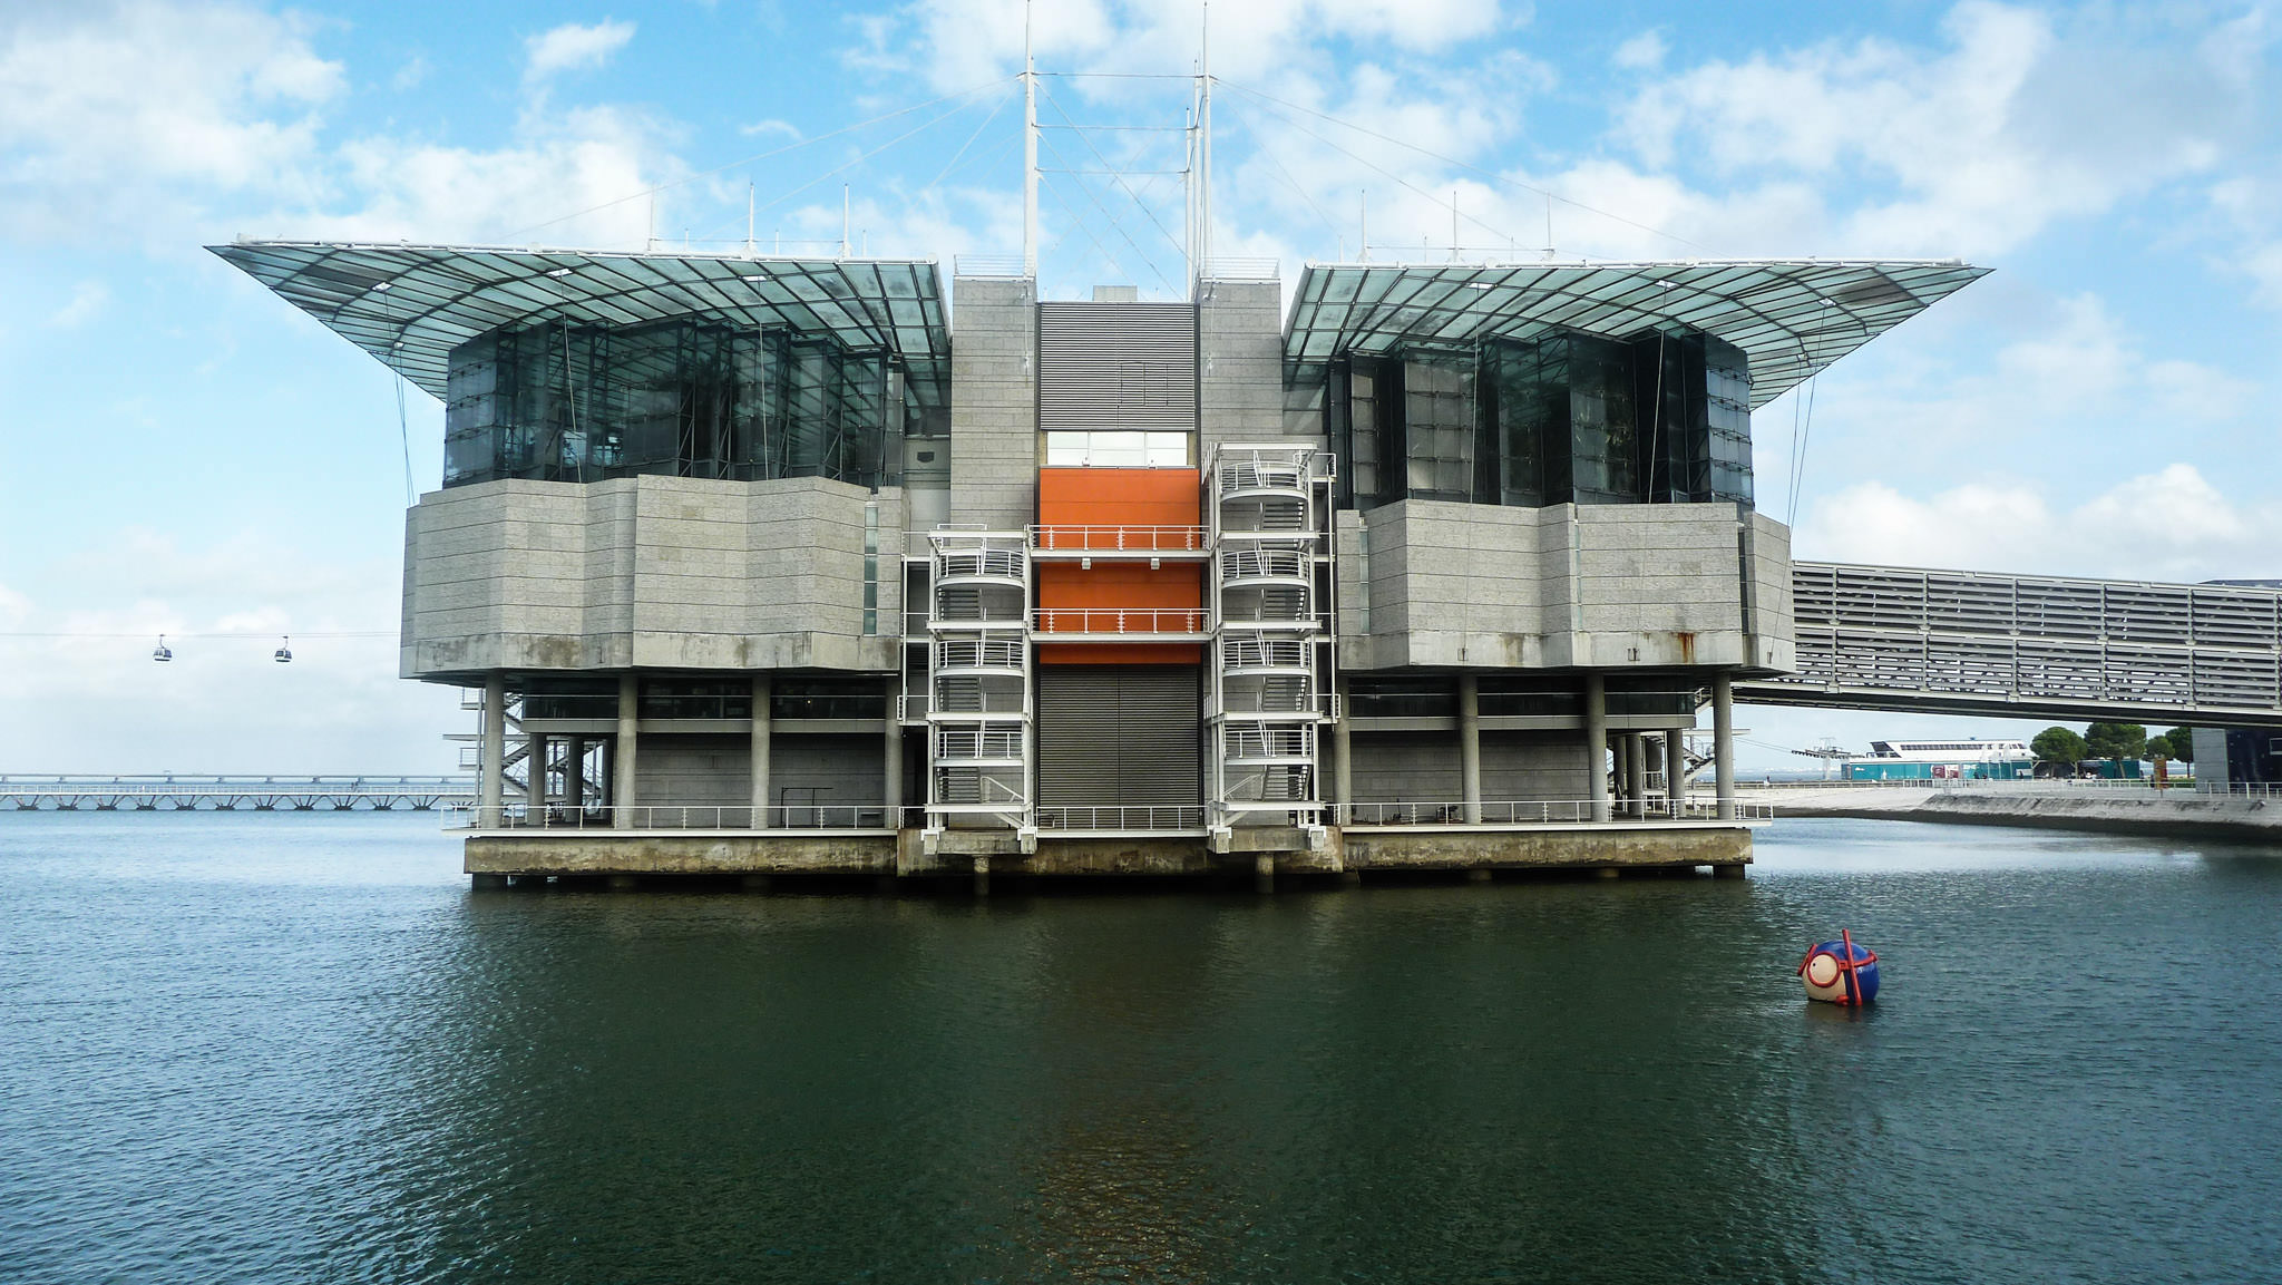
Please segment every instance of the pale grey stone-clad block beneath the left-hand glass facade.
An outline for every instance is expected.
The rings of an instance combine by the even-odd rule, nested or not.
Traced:
[[[865,507],[879,504],[863,632]],[[486,482],[404,534],[406,678],[491,669],[897,669],[901,491],[819,477]]]

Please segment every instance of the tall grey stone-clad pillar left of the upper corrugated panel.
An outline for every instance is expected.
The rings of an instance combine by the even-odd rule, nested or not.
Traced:
[[[1038,509],[1038,294],[1027,278],[952,283],[952,520],[1018,532]]]

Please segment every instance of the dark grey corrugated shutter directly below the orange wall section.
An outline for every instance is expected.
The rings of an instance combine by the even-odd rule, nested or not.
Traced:
[[[1193,664],[1038,666],[1038,803],[1198,806]]]

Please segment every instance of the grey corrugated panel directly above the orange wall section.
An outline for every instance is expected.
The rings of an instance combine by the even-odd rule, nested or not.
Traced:
[[[1196,431],[1196,306],[1038,304],[1038,427]]]

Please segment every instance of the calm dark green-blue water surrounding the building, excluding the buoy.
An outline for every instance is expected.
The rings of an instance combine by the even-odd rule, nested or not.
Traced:
[[[470,892],[434,817],[5,815],[0,1280],[2282,1274],[2282,851],[1759,860]]]

